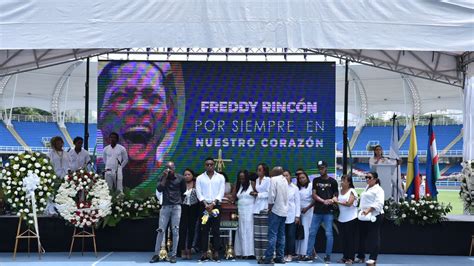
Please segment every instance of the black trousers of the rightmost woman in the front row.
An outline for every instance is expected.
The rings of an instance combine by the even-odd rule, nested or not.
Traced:
[[[377,215],[375,222],[359,221],[359,249],[357,257],[365,259],[365,253],[370,254],[369,259],[377,260],[380,252],[380,228],[383,215]],[[367,248],[366,248],[367,247]]]

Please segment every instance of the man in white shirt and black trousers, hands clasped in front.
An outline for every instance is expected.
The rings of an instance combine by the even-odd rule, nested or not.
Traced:
[[[209,231],[212,231],[213,236],[213,260],[219,261],[220,249],[220,214],[214,217],[211,215],[213,209],[221,211],[220,203],[224,197],[225,178],[223,175],[214,171],[215,162],[213,158],[206,158],[205,168],[206,172],[202,173],[196,179],[196,195],[201,203],[201,213],[207,211],[209,220],[206,224],[201,225],[201,249],[203,255],[201,261],[207,261],[211,258],[207,257]]]

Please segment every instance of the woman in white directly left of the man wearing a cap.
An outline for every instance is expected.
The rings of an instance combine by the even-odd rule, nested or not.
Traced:
[[[308,237],[309,228],[311,227],[311,221],[313,220],[313,191],[312,186],[309,182],[308,174],[300,172],[297,175],[298,181],[297,186],[300,194],[300,205],[301,205],[301,224],[304,228],[304,239],[296,240],[296,255],[300,258],[306,255],[308,250]]]

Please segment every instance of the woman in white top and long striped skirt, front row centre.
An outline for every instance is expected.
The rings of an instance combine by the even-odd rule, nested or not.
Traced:
[[[270,168],[265,163],[257,166],[258,178],[252,183],[255,197],[253,206],[255,257],[261,259],[267,249],[268,241],[268,190],[270,189]]]

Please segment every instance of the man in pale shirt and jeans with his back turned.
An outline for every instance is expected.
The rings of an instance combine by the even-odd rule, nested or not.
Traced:
[[[283,176],[283,168],[277,166],[270,173],[268,191],[268,246],[265,259],[260,264],[271,264],[276,247],[274,263],[285,263],[285,221],[288,216],[288,182]]]

